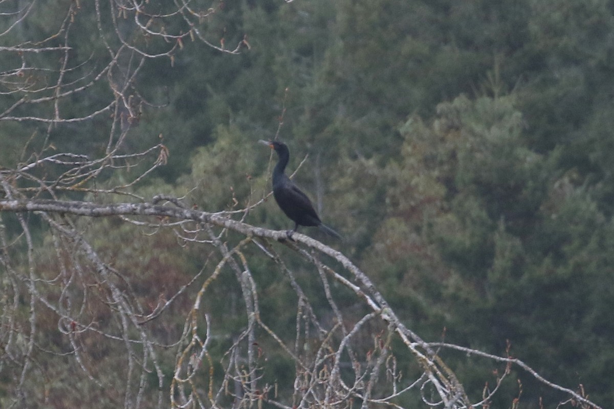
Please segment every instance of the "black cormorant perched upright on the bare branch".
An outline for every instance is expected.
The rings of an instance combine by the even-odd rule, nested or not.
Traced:
[[[260,140],[259,142],[274,149],[279,157],[273,169],[273,196],[281,210],[294,222],[294,229],[288,231],[288,238],[292,238],[292,233],[297,231],[298,226],[317,226],[326,234],[341,239],[336,231],[322,223],[309,197],[284,174],[290,158],[290,151],[286,144],[276,140]]]

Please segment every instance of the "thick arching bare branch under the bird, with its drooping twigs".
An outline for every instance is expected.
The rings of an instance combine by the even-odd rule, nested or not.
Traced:
[[[160,198],[155,198],[153,202],[160,201]],[[418,335],[407,329],[404,324],[395,315],[394,310],[387,304],[384,297],[376,290],[370,279],[363,273],[358,267],[356,267],[348,258],[338,251],[330,248],[317,240],[303,234],[296,234],[293,236],[294,241],[289,242],[287,240],[286,232],[284,231],[271,231],[262,227],[254,227],[241,221],[232,220],[227,216],[222,216],[217,213],[201,212],[198,210],[191,210],[183,207],[171,207],[166,205],[157,205],[150,203],[115,203],[115,204],[95,204],[92,202],[75,202],[75,201],[53,201],[53,200],[4,200],[0,201],[0,211],[12,212],[21,215],[25,212],[36,212],[44,215],[45,220],[50,223],[56,231],[65,235],[82,249],[86,258],[93,264],[96,271],[100,275],[100,279],[105,283],[111,283],[112,275],[115,273],[110,269],[108,264],[99,259],[95,249],[93,249],[87,242],[84,241],[82,236],[78,234],[74,229],[68,227],[66,224],[59,224],[50,218],[50,214],[60,215],[75,215],[86,217],[111,217],[111,216],[146,216],[149,218],[171,218],[185,223],[199,223],[204,227],[204,232],[207,232],[209,236],[209,243],[212,243],[214,247],[218,248],[222,259],[217,264],[217,267],[213,270],[209,278],[204,281],[198,296],[195,299],[192,312],[188,316],[188,320],[185,323],[185,331],[181,339],[184,339],[185,343],[181,340],[177,344],[181,346],[182,352],[177,356],[176,370],[173,378],[173,386],[171,387],[171,399],[174,405],[184,406],[188,403],[198,403],[199,405],[220,405],[225,396],[223,391],[226,391],[231,384],[240,385],[239,389],[235,392],[228,392],[233,399],[247,402],[257,402],[263,399],[263,394],[268,394],[272,391],[272,386],[267,384],[261,384],[262,382],[262,370],[263,363],[258,361],[256,351],[257,339],[261,338],[257,336],[255,331],[258,327],[265,331],[265,334],[270,335],[271,340],[277,343],[282,350],[297,363],[297,378],[295,380],[295,394],[300,399],[295,400],[293,405],[298,407],[307,407],[310,405],[345,405],[344,402],[348,402],[352,399],[358,399],[363,402],[363,405],[367,405],[368,402],[377,403],[390,403],[392,400],[397,399],[403,394],[408,394],[418,387],[421,387],[422,399],[428,402],[429,405],[441,405],[441,407],[449,408],[468,408],[475,407],[476,405],[482,405],[484,400],[480,400],[478,403],[472,403],[470,399],[465,395],[462,384],[457,380],[456,375],[451,369],[441,361],[434,348],[452,348],[454,350],[463,351],[465,353],[476,354],[483,357],[488,357],[494,362],[504,362],[507,364],[517,365],[520,369],[525,370],[534,376],[537,380],[550,386],[553,389],[567,394],[575,402],[586,405],[586,407],[600,408],[595,405],[586,397],[581,396],[577,392],[568,388],[562,388],[556,386],[556,384],[546,381],[538,373],[530,369],[524,362],[514,358],[503,358],[493,356],[491,354],[481,353],[480,351],[470,350],[457,345],[451,345],[446,343],[427,343],[424,342]],[[65,217],[65,216],[64,216]],[[21,220],[25,220],[23,216],[20,216]],[[24,222],[25,223],[25,222]],[[209,227],[208,227],[209,226]],[[27,231],[27,226],[23,226]],[[238,232],[245,237],[244,240],[239,242],[235,247],[229,249],[225,242],[222,242],[218,235],[216,235],[211,227],[222,228],[223,231]],[[323,291],[328,299],[329,304],[332,305],[334,316],[336,317],[336,323],[324,324],[317,318],[317,313],[310,307],[310,301],[305,293],[300,289],[300,286],[294,279],[295,291],[298,294],[299,308],[298,311],[304,309],[304,318],[308,318],[305,323],[301,323],[303,318],[298,320],[297,335],[300,332],[301,327],[308,329],[314,324],[314,328],[317,329],[316,334],[319,340],[319,348],[317,353],[311,357],[302,356],[301,343],[295,345],[295,352],[292,352],[287,345],[287,341],[270,329],[270,327],[262,321],[260,318],[260,307],[258,303],[258,289],[255,285],[254,278],[249,269],[249,261],[243,254],[243,249],[247,248],[254,240],[261,242],[260,246],[255,248],[265,248],[263,254],[265,256],[273,258],[276,264],[279,264],[282,271],[286,271],[292,278],[292,273],[284,266],[279,256],[271,243],[268,240],[278,241],[286,244],[287,247],[293,251],[297,251],[298,254],[303,256],[307,261],[316,266],[317,271],[321,274],[323,283]],[[264,240],[264,241],[262,241]],[[263,245],[263,246],[262,246]],[[357,285],[351,283],[346,278],[337,272],[335,269],[327,264],[322,263],[317,258],[307,251],[308,248],[312,248],[317,253],[325,254],[333,259],[336,263],[343,267],[343,270],[351,273],[351,281],[356,281]],[[34,261],[30,261],[29,264],[34,265]],[[246,327],[244,332],[236,338],[233,346],[227,352],[227,357],[230,359],[225,365],[225,377],[222,384],[219,386],[219,390],[216,394],[218,399],[211,400],[213,397],[211,386],[209,386],[208,394],[198,393],[198,383],[196,383],[195,375],[201,368],[200,365],[203,362],[211,359],[211,352],[209,351],[209,345],[211,343],[211,322],[208,315],[206,318],[206,334],[204,338],[201,338],[201,332],[199,331],[198,321],[200,319],[201,302],[204,294],[209,290],[209,287],[216,280],[219,280],[220,274],[222,274],[223,267],[225,265],[231,266],[231,270],[235,272],[236,280],[241,283],[244,302],[246,305]],[[31,269],[31,278],[28,282],[33,286],[36,282],[34,277],[34,269]],[[350,289],[356,294],[357,299],[365,301],[365,307],[370,308],[370,312],[362,316],[361,319],[356,321],[352,325],[351,329],[345,328],[345,322],[347,318],[344,318],[343,313],[336,307],[334,296],[328,286],[326,275],[330,275],[336,282],[342,283],[346,288]],[[101,282],[103,282],[101,281]],[[193,283],[193,281],[191,281]],[[191,284],[188,284],[191,285]],[[138,317],[142,316],[141,308],[137,305],[131,305],[123,295],[122,291],[116,285],[111,286],[111,292],[109,299],[114,310],[120,313],[120,317],[123,317],[120,321],[120,327],[123,328],[122,332],[125,334],[122,337],[113,337],[118,342],[123,339],[126,351],[128,352],[128,376],[131,377],[131,373],[136,369],[131,356],[134,356],[133,345],[142,344],[147,346],[149,352],[144,355],[143,359],[152,359],[156,366],[160,365],[158,362],[157,353],[155,353],[154,346],[157,342],[154,342],[150,337],[151,334],[146,331],[142,325],[147,321],[139,321]],[[31,294],[37,294],[34,288],[31,288]],[[180,291],[185,291],[181,289]],[[40,296],[39,296],[40,297]],[[34,299],[34,297],[33,297]],[[34,304],[33,304],[34,305]],[[301,308],[300,305],[304,307]],[[156,307],[157,309],[158,307]],[[150,315],[151,316],[151,315]],[[152,317],[159,316],[159,313],[155,313]],[[301,315],[298,315],[301,317]],[[353,340],[359,334],[363,334],[365,331],[369,333],[367,324],[370,322],[377,323],[381,320],[384,324],[382,327],[382,335],[375,335],[374,348],[368,352],[367,356],[360,357],[360,353],[355,351],[352,347]],[[36,322],[35,318],[32,318],[32,322]],[[34,324],[33,324],[34,325]],[[78,324],[80,331],[87,331],[90,324]],[[137,333],[141,335],[138,338],[126,337],[128,329],[138,329]],[[189,331],[188,331],[189,329]],[[36,331],[36,327],[31,327],[31,332]],[[335,334],[338,334],[335,335]],[[384,335],[386,334],[386,335]],[[395,372],[392,371],[393,381],[395,387],[392,388],[391,384],[384,387],[386,383],[382,384],[381,375],[387,372],[388,369],[384,366],[389,361],[391,354],[395,354],[394,350],[391,350],[392,337],[399,337],[405,344],[405,347],[410,351],[416,364],[422,368],[422,374],[411,381],[410,384],[398,385],[397,388],[395,380]],[[297,338],[298,339],[298,338]],[[306,335],[303,338],[303,342],[313,342],[311,335]],[[30,342],[28,351],[33,348],[33,343]],[[31,352],[29,353],[31,354]],[[344,354],[348,354],[349,361],[346,361]],[[28,354],[26,354],[28,356]],[[239,357],[243,357],[239,359]],[[244,359],[244,361],[243,361]],[[244,369],[240,369],[244,364]],[[346,371],[344,365],[349,364],[354,372],[354,380],[348,384],[347,378],[344,379],[342,373]],[[212,368],[212,367],[211,367]],[[325,371],[325,376],[322,371]],[[29,367],[25,365],[23,367],[23,374],[28,373]],[[187,371],[187,372],[185,372]],[[25,375],[22,375],[25,380]],[[211,378],[210,381],[212,381]],[[185,385],[189,384],[190,388],[185,389]],[[374,388],[378,388],[378,394],[373,396]],[[135,385],[136,387],[136,385]],[[128,389],[132,388],[128,384]],[[383,389],[390,388],[386,394],[383,394]],[[438,396],[437,401],[433,401],[432,398],[427,398],[424,395],[425,388],[431,388]],[[137,388],[137,390],[141,390]],[[191,392],[188,392],[191,391]],[[240,392],[239,392],[240,391]],[[142,393],[142,392],[139,392]],[[174,400],[174,396],[181,396],[180,400]],[[126,391],[126,402],[133,401],[135,397],[130,391]],[[139,398],[142,399],[142,398]],[[206,400],[211,400],[209,403],[203,403]],[[270,396],[266,396],[267,401],[276,401]],[[276,401],[277,402],[277,401]],[[279,407],[286,407],[283,401],[277,402]]]

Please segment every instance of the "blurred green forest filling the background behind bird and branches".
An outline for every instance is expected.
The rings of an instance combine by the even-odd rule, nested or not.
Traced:
[[[511,345],[511,355],[548,380],[583,385],[601,407],[614,404],[614,3],[56,3],[0,4],[5,199],[109,203],[166,194],[188,207],[236,211],[225,214],[287,229],[271,200],[239,212],[270,186],[270,152],[257,140],[279,136],[290,147],[290,170],[302,163],[295,180],[345,237],[333,246],[367,272],[412,331],[502,356]],[[62,303],[72,276],[61,274],[80,270],[62,264],[71,245],[45,217],[2,214],[2,305],[14,313],[4,313],[4,327],[15,328],[10,317],[34,308],[18,296],[29,282],[15,278],[21,273],[36,272],[37,291],[70,310]],[[223,257],[199,247],[215,234],[178,237],[116,219],[71,223],[121,272],[118,288],[151,310],[199,272],[200,286]],[[236,244],[229,235],[224,240]],[[276,333],[294,334],[297,295],[289,278],[276,278],[262,258],[251,260],[263,319],[276,323]],[[317,270],[291,256],[285,261],[316,313],[330,314],[313,283]],[[53,286],[58,277],[65,286]],[[79,280],[100,285],[85,267]],[[236,277],[211,291],[203,310],[211,326],[225,328],[212,337],[219,359],[247,318]],[[360,316],[347,289],[337,291],[347,297],[343,312]],[[179,317],[160,324],[168,343],[184,331],[196,292],[182,292],[165,310]],[[106,307],[119,300],[107,297],[80,304],[89,308],[91,328],[117,319]],[[71,323],[39,308],[41,338],[22,345],[18,331],[5,329],[0,345],[63,345],[51,361],[43,353],[33,364],[53,381],[27,402],[70,406],[69,394],[50,391],[71,384],[71,371],[109,381],[95,367],[114,356],[101,347],[91,361],[66,364],[62,353],[96,345],[91,328],[80,329],[82,339],[69,347],[62,337],[70,338]],[[360,347],[368,343],[373,339]],[[11,372],[18,359],[7,351],[0,403],[19,407],[25,401],[14,396],[15,382],[33,375]],[[268,356],[273,373],[263,376],[271,384],[295,370],[282,355]],[[492,372],[492,363],[446,358],[465,376],[467,393],[481,396],[484,378],[476,374]],[[166,393],[173,368],[158,370]],[[540,398],[545,407],[560,402],[526,373],[511,377],[523,384],[521,407],[538,408]],[[157,379],[142,382],[158,387]],[[95,383],[84,378],[82,391]],[[519,394],[516,383],[504,388],[497,407],[511,407]],[[94,405],[101,392],[84,393]],[[130,400],[106,393],[103,407]]]

